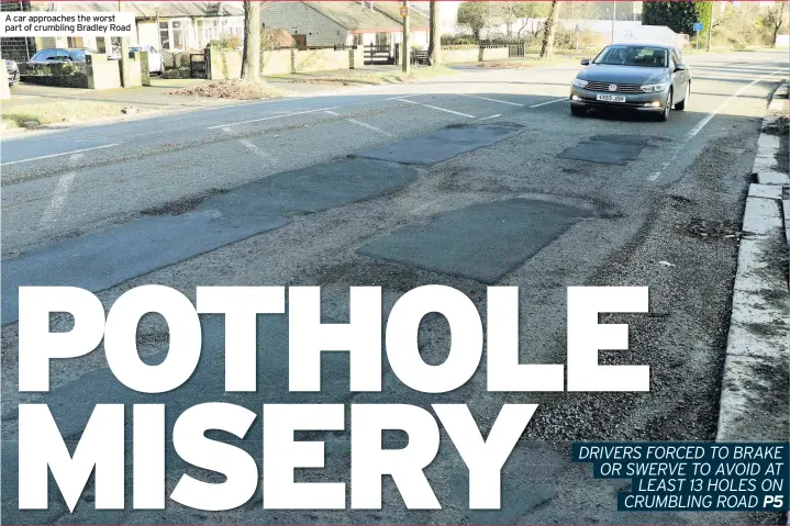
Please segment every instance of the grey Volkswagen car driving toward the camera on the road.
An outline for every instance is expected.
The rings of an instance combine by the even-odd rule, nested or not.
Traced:
[[[691,71],[680,51],[668,45],[612,44],[592,60],[570,87],[570,112],[590,109],[649,112],[661,121],[683,110],[691,93]]]

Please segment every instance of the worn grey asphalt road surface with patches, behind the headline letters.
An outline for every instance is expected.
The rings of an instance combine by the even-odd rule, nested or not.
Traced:
[[[779,515],[617,513],[627,481],[592,480],[569,441],[715,437],[737,233],[760,117],[788,77],[786,53],[694,55],[692,93],[667,123],[572,117],[576,68],[491,70],[312,98],[244,103],[3,141],[3,514],[9,523],[704,523],[778,524]],[[347,320],[351,286],[380,286],[385,313],[405,291],[453,286],[485,320],[486,287],[518,286],[524,362],[565,362],[568,286],[649,286],[649,314],[628,323],[630,350],[605,363],[650,366],[649,393],[494,394],[485,367],[464,388],[421,395],[385,366],[383,393],[348,393],[347,360],[324,360],[321,400],[464,402],[486,428],[502,403],[538,403],[503,474],[502,510],[467,510],[467,472],[448,440],[426,470],[442,511],[409,512],[391,481],[377,512],[264,512],[258,493],[234,512],[15,510],[16,404],[53,401],[64,436],[79,437],[97,402],[147,400],[121,389],[103,354],[56,362],[46,396],[16,392],[15,290],[75,284],[112,304],[140,284],[193,299],[194,287],[322,287],[324,321]],[[67,328],[66,316],[54,326]],[[221,320],[203,323],[203,358],[183,388],[157,399],[168,422],[222,399],[307,401],[285,383],[285,316],[262,316],[259,393],[221,393]],[[149,316],[140,351],[157,362],[166,327]],[[421,349],[448,348],[429,316]],[[262,387],[263,385],[263,387]],[[100,396],[99,394],[100,393]],[[55,403],[56,401],[56,403]],[[245,447],[260,458],[260,422]],[[131,436],[131,433],[129,434]],[[786,439],[787,437],[765,437]],[[327,435],[327,472],[348,479],[346,435]],[[185,466],[168,451],[168,488]],[[202,474],[204,477],[204,473]],[[131,471],[127,474],[131,486]],[[311,479],[312,480],[312,479]]]

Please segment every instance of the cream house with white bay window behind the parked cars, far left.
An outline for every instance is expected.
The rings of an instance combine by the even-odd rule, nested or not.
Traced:
[[[2,2],[5,4],[7,2]],[[244,37],[244,8],[242,2],[18,2],[19,10],[33,11],[131,11],[135,18],[135,32],[130,38],[132,45],[151,45],[165,51],[202,49],[212,40]],[[24,5],[23,5],[24,3]],[[10,7],[10,3],[9,3]],[[9,9],[7,7],[7,9]],[[158,24],[158,27],[157,27]],[[110,41],[110,42],[108,42]],[[99,53],[111,53],[121,44],[120,37],[92,35],[37,36],[30,38],[26,47],[20,46],[18,59],[27,60],[38,49],[48,47],[89,47]],[[3,40],[3,53],[10,43]],[[5,55],[8,56],[8,55]]]

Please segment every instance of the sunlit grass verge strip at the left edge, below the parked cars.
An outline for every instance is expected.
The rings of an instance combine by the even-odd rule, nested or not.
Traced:
[[[80,122],[105,116],[121,116],[121,109],[127,103],[94,102],[88,100],[55,100],[15,104],[0,110],[0,119],[9,127],[21,127],[26,121],[38,124]]]

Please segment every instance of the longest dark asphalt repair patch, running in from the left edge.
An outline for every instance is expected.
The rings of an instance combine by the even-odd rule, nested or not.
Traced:
[[[18,287],[109,289],[282,226],[289,214],[385,195],[416,176],[415,168],[370,159],[315,165],[189,201],[188,213],[168,213],[181,211],[180,202],[164,205],[152,209],[162,213],[23,254],[2,264],[2,324],[18,320]]]

